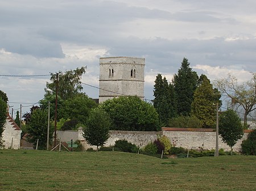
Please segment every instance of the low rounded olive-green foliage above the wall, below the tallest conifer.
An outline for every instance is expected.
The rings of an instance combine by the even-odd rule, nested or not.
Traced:
[[[168,126],[171,128],[201,128],[201,122],[196,117],[180,116],[171,118]]]

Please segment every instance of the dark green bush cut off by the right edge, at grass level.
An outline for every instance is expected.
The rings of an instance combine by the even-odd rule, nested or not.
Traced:
[[[242,141],[242,153],[246,155],[256,155],[256,129],[248,134],[246,140]]]

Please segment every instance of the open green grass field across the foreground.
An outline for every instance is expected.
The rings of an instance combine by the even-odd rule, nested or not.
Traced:
[[[0,190],[256,190],[256,156],[0,150]]]

